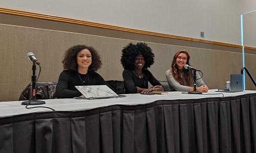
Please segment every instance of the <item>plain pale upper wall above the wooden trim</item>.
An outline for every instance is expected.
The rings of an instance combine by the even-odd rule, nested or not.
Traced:
[[[240,0],[0,1],[0,7],[240,44]],[[255,6],[255,5],[254,5]]]

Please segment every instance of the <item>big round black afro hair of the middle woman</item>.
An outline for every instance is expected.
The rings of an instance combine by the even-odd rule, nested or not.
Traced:
[[[145,60],[143,69],[146,69],[153,65],[155,55],[152,53],[151,47],[147,46],[144,42],[138,42],[137,44],[129,43],[122,49],[121,64],[124,69],[133,70],[135,58],[142,55]]]

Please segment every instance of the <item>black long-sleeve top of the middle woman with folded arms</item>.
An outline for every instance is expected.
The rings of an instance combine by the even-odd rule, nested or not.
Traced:
[[[149,70],[143,69],[142,73],[144,74],[144,77],[140,79],[132,70],[123,70],[123,81],[126,88],[126,93],[137,93],[136,87],[147,89],[148,82],[150,82],[153,86],[162,86]]]

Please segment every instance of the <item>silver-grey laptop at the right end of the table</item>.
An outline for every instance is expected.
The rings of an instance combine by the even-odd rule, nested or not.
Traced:
[[[216,92],[240,92],[243,91],[243,74],[230,74],[230,90],[218,89]]]

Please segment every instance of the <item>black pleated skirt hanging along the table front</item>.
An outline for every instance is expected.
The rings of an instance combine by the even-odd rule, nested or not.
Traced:
[[[256,94],[0,119],[0,152],[256,152]]]

